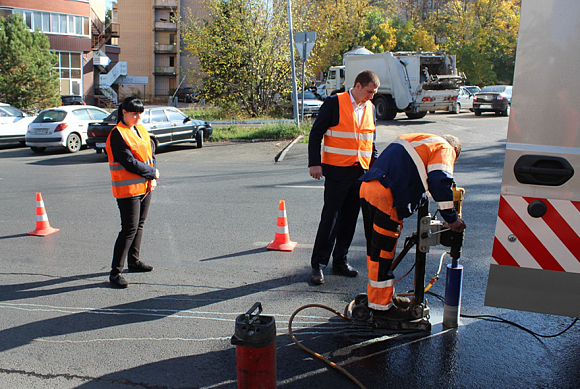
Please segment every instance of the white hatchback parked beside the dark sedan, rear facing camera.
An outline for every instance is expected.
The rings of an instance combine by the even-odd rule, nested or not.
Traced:
[[[66,105],[46,109],[28,125],[26,146],[35,153],[47,147],[65,147],[76,153],[87,142],[89,123],[102,122],[109,113],[90,105]]]

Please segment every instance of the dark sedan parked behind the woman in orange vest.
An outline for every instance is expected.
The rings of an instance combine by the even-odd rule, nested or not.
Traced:
[[[203,147],[204,141],[211,138],[213,128],[209,122],[191,119],[174,107],[146,108],[141,114],[141,122],[151,136],[151,147],[166,146],[174,143],[196,143],[197,148]],[[87,131],[87,146],[103,152],[107,137],[118,123],[117,111],[113,111],[102,123],[89,125]]]

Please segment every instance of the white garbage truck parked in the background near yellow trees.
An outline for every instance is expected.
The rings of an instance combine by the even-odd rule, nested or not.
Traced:
[[[374,71],[381,81],[373,103],[377,119],[393,120],[398,112],[420,119],[431,111],[452,111],[463,77],[454,55],[400,51],[357,55],[346,53],[343,66],[328,71],[326,91],[348,90],[363,70]]]

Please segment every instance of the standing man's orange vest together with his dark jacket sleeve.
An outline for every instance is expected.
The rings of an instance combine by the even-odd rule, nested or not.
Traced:
[[[320,159],[321,141],[322,161]],[[360,163],[368,169],[376,158],[374,106],[370,101],[358,124],[349,92],[338,93],[326,99],[310,131],[308,166],[321,164],[353,166]]]

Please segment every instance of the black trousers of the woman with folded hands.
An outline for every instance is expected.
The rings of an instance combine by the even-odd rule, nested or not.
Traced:
[[[117,205],[121,213],[121,231],[117,236],[115,248],[113,249],[111,275],[116,275],[123,271],[125,259],[128,260],[130,265],[139,260],[143,225],[145,224],[145,219],[147,219],[150,204],[151,193],[145,196],[117,199]]]

